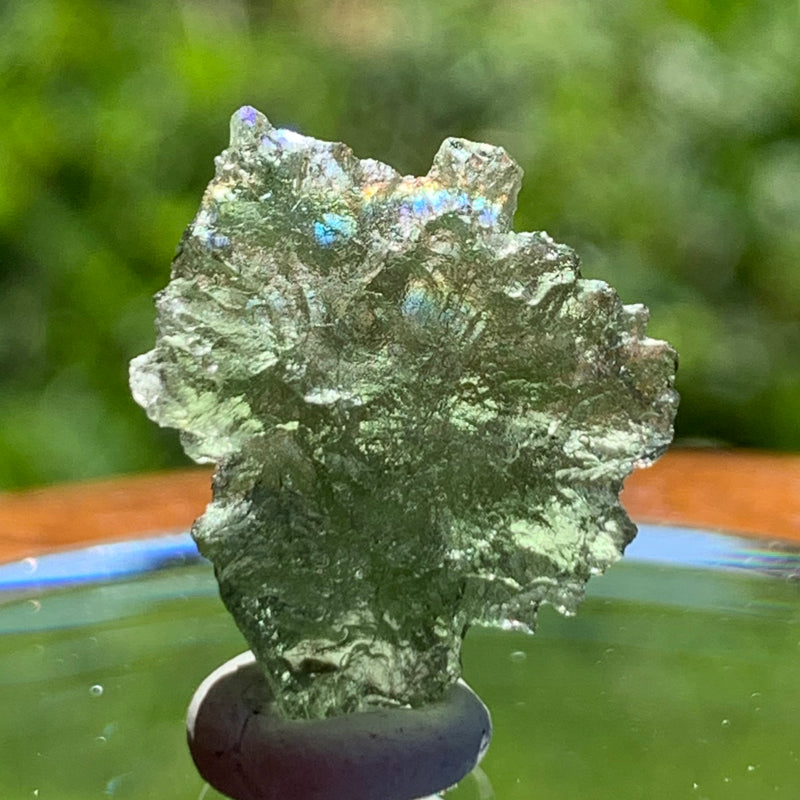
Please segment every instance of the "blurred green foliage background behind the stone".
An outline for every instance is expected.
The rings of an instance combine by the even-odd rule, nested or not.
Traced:
[[[0,487],[185,463],[130,400],[151,295],[249,103],[424,173],[524,166],[518,230],[652,311],[678,436],[800,449],[796,0],[0,6]]]

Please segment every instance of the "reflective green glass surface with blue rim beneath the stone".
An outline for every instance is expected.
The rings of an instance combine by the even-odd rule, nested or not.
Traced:
[[[186,536],[0,567],[0,797],[212,800],[195,687],[245,649]],[[800,556],[641,530],[577,617],[472,630],[492,746],[452,800],[800,796]]]

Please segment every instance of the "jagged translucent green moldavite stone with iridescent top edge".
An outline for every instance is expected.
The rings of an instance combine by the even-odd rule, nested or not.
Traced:
[[[511,232],[520,181],[500,147],[403,177],[233,116],[131,384],[218,465],[193,534],[287,715],[438,698],[471,622],[574,611],[635,534],[675,353]]]

